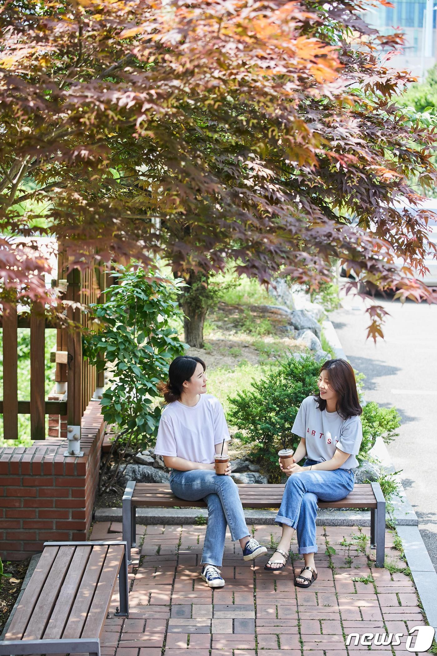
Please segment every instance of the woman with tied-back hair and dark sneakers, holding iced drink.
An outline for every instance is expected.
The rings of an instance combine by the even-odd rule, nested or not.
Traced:
[[[185,501],[208,505],[208,525],[202,551],[201,576],[210,588],[225,584],[219,567],[223,560],[226,526],[233,541],[239,541],[244,560],[267,554],[250,533],[244,519],[238,488],[229,476],[218,476],[216,453],[227,453],[229,430],[218,399],[206,394],[205,363],[200,358],[180,356],[170,364],[168,382],[161,385],[167,405],[159,422],[155,453],[170,467],[170,488]]]

